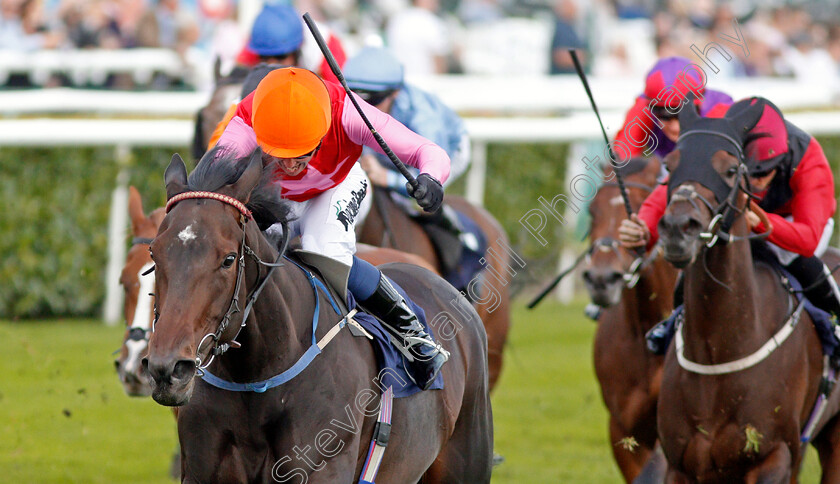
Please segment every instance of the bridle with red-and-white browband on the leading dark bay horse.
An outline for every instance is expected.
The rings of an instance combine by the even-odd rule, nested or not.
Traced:
[[[173,196],[169,199],[168,202],[166,202],[166,213],[169,213],[169,211],[176,203],[182,200],[196,198],[210,198],[233,206],[239,211],[239,224],[242,228],[242,242],[239,245],[239,252],[236,258],[238,264],[236,270],[236,284],[233,289],[233,297],[231,298],[230,306],[228,307],[227,312],[219,322],[219,326],[216,328],[216,331],[205,334],[204,337],[201,338],[201,341],[199,341],[198,346],[195,349],[196,373],[198,374],[198,376],[203,376],[204,370],[208,366],[210,366],[210,364],[213,362],[213,359],[216,356],[223,354],[230,348],[239,348],[242,346],[238,341],[236,341],[236,338],[239,336],[239,333],[242,332],[242,328],[245,327],[246,322],[248,320],[248,315],[251,312],[251,308],[253,307],[254,302],[257,300],[260,293],[262,292],[263,287],[265,287],[266,282],[268,282],[269,278],[271,277],[271,274],[274,272],[274,269],[283,266],[283,263],[280,262],[280,260],[282,259],[283,254],[286,252],[286,248],[289,244],[289,228],[288,225],[283,223],[283,240],[280,252],[277,255],[277,259],[274,262],[266,262],[260,259],[260,257],[245,242],[246,225],[248,223],[248,220],[251,220],[253,218],[251,211],[245,206],[244,203],[240,202],[239,200],[233,197],[223,195],[220,193],[206,191],[184,192]],[[242,277],[245,272],[246,255],[251,256],[257,262],[257,264],[268,267],[269,270],[266,273],[266,275],[257,283],[257,286],[253,289],[253,291],[251,291],[251,293],[248,294],[248,297],[246,298],[245,302],[245,309],[243,311],[239,307],[239,291],[242,287]],[[234,334],[232,338],[223,341],[222,337],[225,331],[227,331],[228,327],[230,326],[233,316],[239,312],[242,312],[242,323],[236,330],[236,334]],[[157,312],[157,302],[155,302],[155,323],[157,322],[158,317],[159,314]],[[152,332],[154,332],[154,324],[152,325]],[[203,362],[201,357],[202,347],[208,340],[212,344],[209,352],[210,358],[206,362]]]

